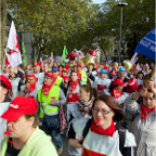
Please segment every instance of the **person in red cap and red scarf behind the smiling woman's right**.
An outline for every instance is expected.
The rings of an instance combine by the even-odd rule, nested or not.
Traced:
[[[104,93],[112,95],[118,104],[123,104],[129,96],[129,93],[122,91],[125,84],[121,79],[117,78],[112,82],[108,90],[104,90]]]

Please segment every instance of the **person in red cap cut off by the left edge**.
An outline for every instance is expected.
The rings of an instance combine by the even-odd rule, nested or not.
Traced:
[[[8,95],[12,92],[12,84],[10,80],[0,75],[0,116],[9,108]],[[3,133],[6,129],[6,120],[0,118],[0,145],[3,140]]]

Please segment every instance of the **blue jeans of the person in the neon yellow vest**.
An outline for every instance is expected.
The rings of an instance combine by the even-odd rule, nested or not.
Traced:
[[[57,148],[61,148],[63,146],[63,141],[60,135],[60,130],[49,130],[44,129],[43,130],[48,135],[52,136],[53,142],[55,143]]]

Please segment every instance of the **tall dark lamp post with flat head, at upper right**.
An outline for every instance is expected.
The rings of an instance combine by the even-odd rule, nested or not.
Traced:
[[[120,53],[121,53],[121,27],[122,27],[122,6],[127,6],[128,3],[119,2],[117,6],[120,6],[120,40],[119,40],[119,63],[120,63]]]

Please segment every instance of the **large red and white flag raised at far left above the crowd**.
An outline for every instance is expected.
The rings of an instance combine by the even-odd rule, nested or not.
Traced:
[[[22,64],[21,50],[20,50],[16,29],[15,29],[15,25],[14,25],[13,21],[12,21],[12,24],[11,24],[6,47],[11,50],[11,52],[10,52],[11,67],[14,68],[14,67],[21,65]]]

